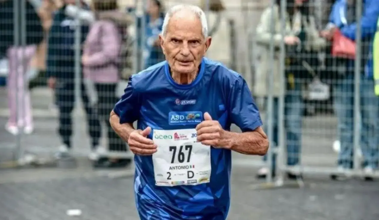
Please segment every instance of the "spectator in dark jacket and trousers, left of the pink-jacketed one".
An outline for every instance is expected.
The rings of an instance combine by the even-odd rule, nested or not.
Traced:
[[[65,0],[65,5],[56,11],[53,25],[49,33],[47,51],[47,76],[48,85],[55,90],[56,105],[59,108],[59,134],[63,141],[57,156],[61,157],[69,153],[72,136],[72,115],[75,103],[75,30],[78,28],[76,21],[66,16],[65,9],[69,4],[75,5],[75,0]],[[88,8],[84,3],[83,7]],[[88,8],[89,9],[89,8]],[[81,28],[81,42],[85,41],[89,27]],[[100,139],[100,121],[91,104],[81,80],[81,99],[86,111],[88,130],[91,136],[91,147],[95,151]]]

